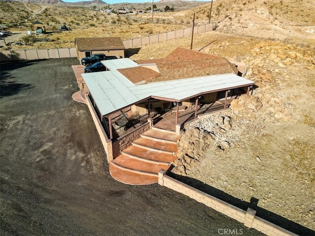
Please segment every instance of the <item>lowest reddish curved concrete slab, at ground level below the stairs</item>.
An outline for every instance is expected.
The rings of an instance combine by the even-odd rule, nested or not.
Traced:
[[[158,182],[158,176],[131,172],[128,169],[120,169],[111,164],[109,165],[109,172],[114,179],[124,184],[145,185]]]

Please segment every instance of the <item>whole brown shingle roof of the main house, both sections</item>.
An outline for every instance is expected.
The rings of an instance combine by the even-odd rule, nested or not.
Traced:
[[[213,56],[184,48],[177,48],[165,59],[139,60],[140,67],[120,69],[132,83],[158,82],[175,79],[193,78],[216,74],[237,74],[238,69],[224,57]],[[156,64],[159,73],[142,69],[141,64]],[[125,70],[124,72],[122,72]]]

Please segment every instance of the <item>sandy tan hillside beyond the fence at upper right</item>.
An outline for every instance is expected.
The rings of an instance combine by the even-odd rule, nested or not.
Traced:
[[[211,3],[180,12],[163,12],[157,17],[195,24],[209,23]],[[216,0],[211,23],[228,34],[277,38],[315,44],[315,1],[313,0]],[[148,14],[140,17],[149,19]]]

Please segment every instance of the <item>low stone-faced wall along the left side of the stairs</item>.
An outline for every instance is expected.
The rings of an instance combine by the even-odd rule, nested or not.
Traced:
[[[121,152],[127,147],[131,146],[132,142],[140,137],[144,132],[150,129],[150,123],[145,123],[140,126],[137,130],[132,132],[131,134],[124,135],[119,137],[117,140],[112,142],[113,148],[113,159],[118,157]]]

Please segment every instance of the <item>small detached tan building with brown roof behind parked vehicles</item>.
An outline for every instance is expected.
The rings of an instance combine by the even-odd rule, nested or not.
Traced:
[[[81,61],[95,53],[104,53],[106,56],[125,57],[125,46],[120,37],[87,37],[75,38],[77,57]]]

